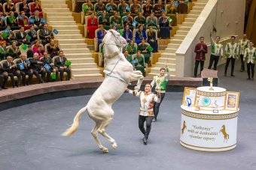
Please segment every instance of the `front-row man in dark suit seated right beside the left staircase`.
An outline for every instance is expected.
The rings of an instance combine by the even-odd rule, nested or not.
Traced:
[[[59,70],[60,81],[63,81],[63,73],[68,73],[68,80],[71,79],[71,70],[69,65],[66,64],[67,58],[64,56],[63,51],[59,51],[59,57],[55,58],[54,65]]]

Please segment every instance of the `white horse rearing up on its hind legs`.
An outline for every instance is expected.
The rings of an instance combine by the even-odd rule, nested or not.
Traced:
[[[127,44],[126,40],[117,31],[113,29],[107,31],[102,42],[104,43],[105,79],[90,98],[87,106],[79,110],[78,114],[75,115],[72,126],[65,133],[62,133],[62,136],[71,136],[72,133],[78,130],[79,118],[87,110],[89,117],[96,123],[91,134],[99,148],[104,153],[108,153],[108,148],[105,148],[99,142],[98,133],[111,142],[112,148],[117,148],[117,143],[105,132],[114,116],[111,106],[123,94],[130,82],[138,80],[135,89],[139,90],[144,77],[142,72],[133,70],[133,65],[126,60],[117,47],[120,46],[122,48]]]

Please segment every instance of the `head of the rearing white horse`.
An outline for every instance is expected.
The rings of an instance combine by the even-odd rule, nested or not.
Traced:
[[[107,34],[105,34],[103,40],[103,43],[114,43],[117,46],[124,47],[127,45],[126,40],[119,34],[119,32],[115,31],[114,29],[110,29],[107,31]]]

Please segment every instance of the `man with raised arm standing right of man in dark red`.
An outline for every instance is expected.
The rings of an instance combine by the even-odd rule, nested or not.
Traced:
[[[210,58],[210,63],[209,63],[209,67],[208,69],[212,69],[212,64],[214,62],[214,70],[217,70],[217,65],[218,65],[218,59],[223,56],[223,46],[220,43],[221,37],[220,36],[216,36],[215,37],[215,42],[212,38],[212,31],[210,34],[210,38],[211,38],[211,47],[212,47],[212,53],[211,53],[211,58]]]

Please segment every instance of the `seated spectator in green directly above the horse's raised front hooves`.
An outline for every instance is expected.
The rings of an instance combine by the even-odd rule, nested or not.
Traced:
[[[135,55],[133,55],[133,67],[135,70],[139,70],[142,72],[142,75],[145,76],[145,61],[144,56],[142,55],[141,51],[137,51]]]

